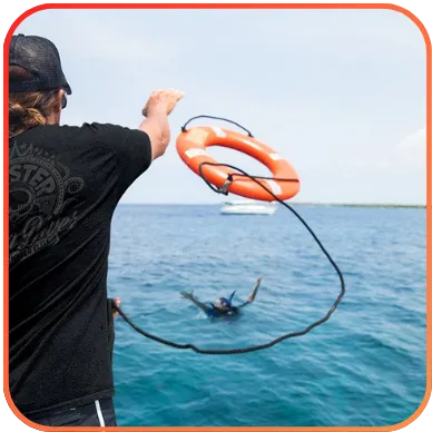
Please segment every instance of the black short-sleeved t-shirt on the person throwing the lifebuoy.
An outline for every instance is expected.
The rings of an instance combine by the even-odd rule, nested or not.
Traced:
[[[23,414],[114,395],[110,224],[151,163],[147,134],[39,126],[11,138],[10,391]]]

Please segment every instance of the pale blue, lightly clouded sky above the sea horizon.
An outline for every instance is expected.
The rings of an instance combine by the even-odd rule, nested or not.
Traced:
[[[135,128],[153,90],[185,92],[168,150],[124,204],[238,199],[212,192],[177,154],[181,125],[197,115],[239,122],[283,155],[301,179],[293,203],[425,204],[426,51],[400,12],[43,10],[16,32],[58,47],[72,88],[62,124]],[[269,173],[237,151],[209,153]]]

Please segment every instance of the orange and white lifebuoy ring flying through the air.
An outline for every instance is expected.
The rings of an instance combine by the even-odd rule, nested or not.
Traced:
[[[277,151],[257,139],[244,134],[214,127],[197,126],[181,131],[176,141],[178,155],[181,160],[197,175],[217,188],[226,187],[226,193],[232,193],[251,199],[273,202],[274,196],[261,187],[251,178],[224,166],[210,166],[203,164],[216,164],[208,154],[207,147],[220,146],[242,151],[264,164],[273,174],[273,178],[259,179],[267,189],[281,200],[294,197],[300,190],[300,178],[292,165]],[[234,180],[227,184],[233,176]],[[238,178],[236,178],[238,175]]]

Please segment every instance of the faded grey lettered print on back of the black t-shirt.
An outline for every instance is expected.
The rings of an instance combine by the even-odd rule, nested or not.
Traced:
[[[62,214],[85,186],[56,156],[32,144],[14,144],[9,156],[9,262],[57,244],[78,213]]]

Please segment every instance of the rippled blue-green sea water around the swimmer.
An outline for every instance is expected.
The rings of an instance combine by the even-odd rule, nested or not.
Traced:
[[[295,206],[345,276],[328,322],[255,353],[202,355],[116,320],[118,423],[129,426],[384,426],[425,392],[425,209]],[[212,322],[181,291],[255,302]],[[334,268],[281,207],[222,216],[218,206],[119,206],[109,294],[139,326],[203,348],[252,346],[303,330],[340,293]]]

